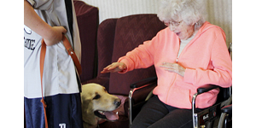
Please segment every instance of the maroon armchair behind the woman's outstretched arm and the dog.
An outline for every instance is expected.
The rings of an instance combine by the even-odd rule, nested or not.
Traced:
[[[139,44],[154,38],[156,33],[165,27],[156,15],[129,15],[102,21],[97,32],[98,73],[96,79],[91,79],[87,83],[102,84],[108,93],[126,97],[131,90],[130,84],[155,77],[154,67],[137,69],[125,74],[100,72]],[[125,114],[119,115],[118,121],[106,121],[100,127],[129,127],[127,100],[124,106]]]

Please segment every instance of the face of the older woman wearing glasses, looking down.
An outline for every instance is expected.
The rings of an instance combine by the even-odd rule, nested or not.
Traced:
[[[169,26],[172,32],[176,33],[178,38],[184,39],[184,40],[190,38],[195,31],[194,30],[195,25],[187,25],[183,20],[171,21],[169,22],[169,24],[166,24],[166,25]]]

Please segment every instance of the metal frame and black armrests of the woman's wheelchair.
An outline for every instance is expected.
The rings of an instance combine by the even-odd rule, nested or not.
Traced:
[[[149,78],[145,79],[143,82],[137,82],[135,84],[131,84],[131,90],[129,93],[129,125],[131,126],[131,120],[132,120],[132,96],[136,90],[140,90],[143,88],[150,88],[156,86],[157,78]],[[209,90],[220,88],[218,85],[204,85],[197,89],[197,93],[192,97],[192,118],[193,118],[193,127],[194,128],[211,128],[212,123],[215,119],[218,119],[221,115],[221,108],[224,108],[224,106],[230,105],[232,102],[232,94],[231,90],[232,87],[228,88],[229,91],[229,98],[221,101],[216,102],[212,107],[206,108],[205,110],[201,111],[200,113],[196,113],[195,110],[195,99],[200,94],[207,92]],[[145,100],[146,101],[146,100]]]

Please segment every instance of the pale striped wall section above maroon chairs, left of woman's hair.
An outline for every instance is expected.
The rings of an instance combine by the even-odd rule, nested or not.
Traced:
[[[83,0],[99,8],[99,20],[134,14],[156,14],[159,0]]]

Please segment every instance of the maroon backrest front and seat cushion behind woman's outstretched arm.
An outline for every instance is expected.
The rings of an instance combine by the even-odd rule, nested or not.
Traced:
[[[118,61],[128,51],[146,40],[151,40],[165,27],[156,15],[129,15],[119,18],[115,28],[112,61]],[[110,73],[109,93],[127,96],[131,83],[154,76],[154,66],[125,74]]]

